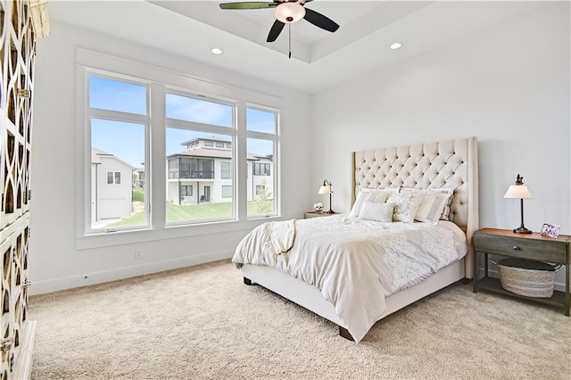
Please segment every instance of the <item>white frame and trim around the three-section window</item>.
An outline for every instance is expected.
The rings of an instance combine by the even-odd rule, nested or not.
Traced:
[[[78,47],[75,49],[76,62],[76,122],[83,128],[78,128],[76,133],[75,155],[80,158],[76,160],[76,180],[75,182],[75,202],[76,202],[76,249],[94,249],[117,244],[139,244],[144,242],[154,242],[165,238],[178,238],[193,235],[219,234],[224,232],[234,232],[244,228],[252,228],[260,223],[260,219],[271,220],[280,218],[281,198],[280,198],[280,119],[284,99],[271,93],[260,93],[236,87],[228,83],[217,83],[212,80],[197,78],[187,72],[170,67],[169,62],[161,62],[158,66],[156,62],[145,62],[145,57],[141,56],[137,61],[125,57],[113,56],[95,52],[93,50]],[[147,117],[140,117],[138,120],[119,117],[121,112],[116,112],[112,120],[125,122],[136,122],[145,125],[145,212],[147,212],[147,227],[114,231],[92,231],[90,226],[90,204],[87,202],[91,191],[90,185],[90,156],[91,142],[89,134],[89,115],[87,112],[88,101],[88,73],[98,75],[103,78],[115,80],[126,80],[137,85],[147,86],[147,106],[151,113]],[[234,183],[233,192],[236,196],[234,208],[236,209],[236,220],[227,220],[222,223],[197,223],[192,225],[166,226],[165,212],[167,198],[164,184],[167,170],[165,168],[165,128],[166,109],[164,102],[149,101],[149,97],[154,99],[164,99],[169,90],[180,89],[183,93],[192,93],[197,96],[207,96],[219,101],[231,101],[236,103],[236,138],[231,143],[231,149],[236,151],[236,161],[233,162]],[[263,133],[248,132],[245,130],[245,107],[254,107],[264,111],[275,112],[276,134],[265,138]],[[106,119],[105,112],[93,112],[91,116]],[[115,112],[114,112],[115,113]],[[196,125],[195,125],[196,126]],[[227,127],[220,127],[228,129]],[[222,134],[228,134],[222,132]],[[244,178],[247,174],[247,155],[245,153],[247,137],[269,139],[274,141],[274,213],[269,216],[249,216],[247,214],[246,183],[236,178]],[[153,141],[153,152],[150,150],[150,143]],[[152,154],[151,154],[152,153]],[[81,159],[83,158],[83,159]],[[151,188],[151,184],[153,188]],[[268,219],[269,218],[269,219]]]

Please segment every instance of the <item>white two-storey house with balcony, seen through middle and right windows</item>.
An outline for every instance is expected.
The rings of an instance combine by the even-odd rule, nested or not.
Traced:
[[[167,157],[167,201],[175,204],[232,202],[232,142],[194,138],[186,152]],[[248,201],[273,199],[273,157],[248,154]]]

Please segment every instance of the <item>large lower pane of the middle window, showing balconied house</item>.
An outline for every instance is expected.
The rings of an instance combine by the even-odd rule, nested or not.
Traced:
[[[167,223],[232,219],[232,178],[222,173],[222,163],[232,166],[232,149],[215,146],[227,146],[232,136],[168,127],[166,140]]]

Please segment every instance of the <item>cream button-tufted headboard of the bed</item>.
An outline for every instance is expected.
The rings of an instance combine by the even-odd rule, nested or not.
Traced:
[[[353,153],[352,202],[360,188],[453,188],[452,222],[472,244],[478,228],[477,139],[468,137],[418,145],[402,145]],[[466,276],[472,274],[472,249]]]

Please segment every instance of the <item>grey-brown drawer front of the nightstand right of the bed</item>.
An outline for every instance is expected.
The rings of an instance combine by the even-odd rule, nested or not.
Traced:
[[[479,252],[515,256],[522,259],[567,263],[567,244],[556,240],[532,240],[501,235],[475,234],[474,245]]]

